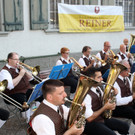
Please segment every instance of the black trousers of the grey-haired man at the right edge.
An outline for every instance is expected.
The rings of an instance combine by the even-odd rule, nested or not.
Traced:
[[[135,106],[117,106],[113,111],[113,116],[132,119],[135,124]]]

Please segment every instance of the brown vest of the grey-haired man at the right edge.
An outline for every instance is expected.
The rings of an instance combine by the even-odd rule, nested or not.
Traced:
[[[125,84],[121,79],[117,78],[116,82],[118,83],[121,89],[121,97],[128,97],[132,95],[128,80],[126,80],[126,84]],[[132,105],[132,102],[130,102],[128,105]]]

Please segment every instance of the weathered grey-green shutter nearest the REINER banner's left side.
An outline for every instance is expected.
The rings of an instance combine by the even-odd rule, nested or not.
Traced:
[[[42,30],[48,28],[48,0],[30,0],[30,28]]]

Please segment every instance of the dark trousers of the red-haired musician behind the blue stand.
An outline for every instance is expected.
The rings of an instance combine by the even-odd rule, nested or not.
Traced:
[[[76,87],[78,83],[78,78],[76,76],[71,74],[64,79],[61,79],[61,81],[64,83],[65,86],[71,87],[70,93],[74,93],[76,91]]]

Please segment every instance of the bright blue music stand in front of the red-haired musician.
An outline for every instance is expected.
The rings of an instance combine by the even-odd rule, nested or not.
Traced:
[[[73,63],[54,66],[49,75],[49,78],[50,79],[65,78],[68,75],[72,65],[73,65]]]

